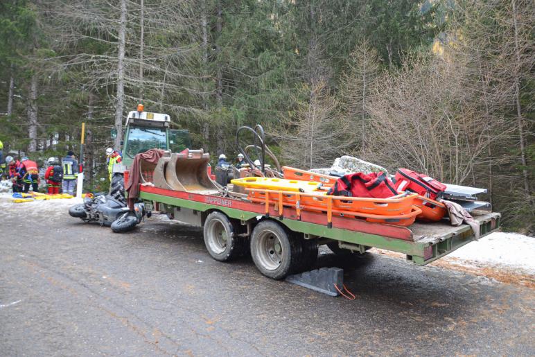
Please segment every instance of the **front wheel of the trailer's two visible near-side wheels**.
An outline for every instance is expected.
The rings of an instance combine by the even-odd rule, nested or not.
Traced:
[[[236,225],[221,212],[212,212],[204,222],[204,245],[216,261],[231,261],[244,254],[249,241],[238,236]]]

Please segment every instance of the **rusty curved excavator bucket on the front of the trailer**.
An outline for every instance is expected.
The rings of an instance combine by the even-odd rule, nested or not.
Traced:
[[[193,193],[217,193],[218,186],[208,176],[210,154],[186,149],[161,157],[155,168],[154,184],[161,189]]]

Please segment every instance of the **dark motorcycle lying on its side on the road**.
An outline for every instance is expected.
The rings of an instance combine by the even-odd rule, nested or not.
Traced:
[[[111,195],[96,195],[94,198],[85,198],[83,203],[69,208],[69,215],[87,223],[99,223],[119,233],[134,229],[141,223],[146,211],[143,203],[135,203],[134,210],[130,211],[124,201],[117,200]]]

